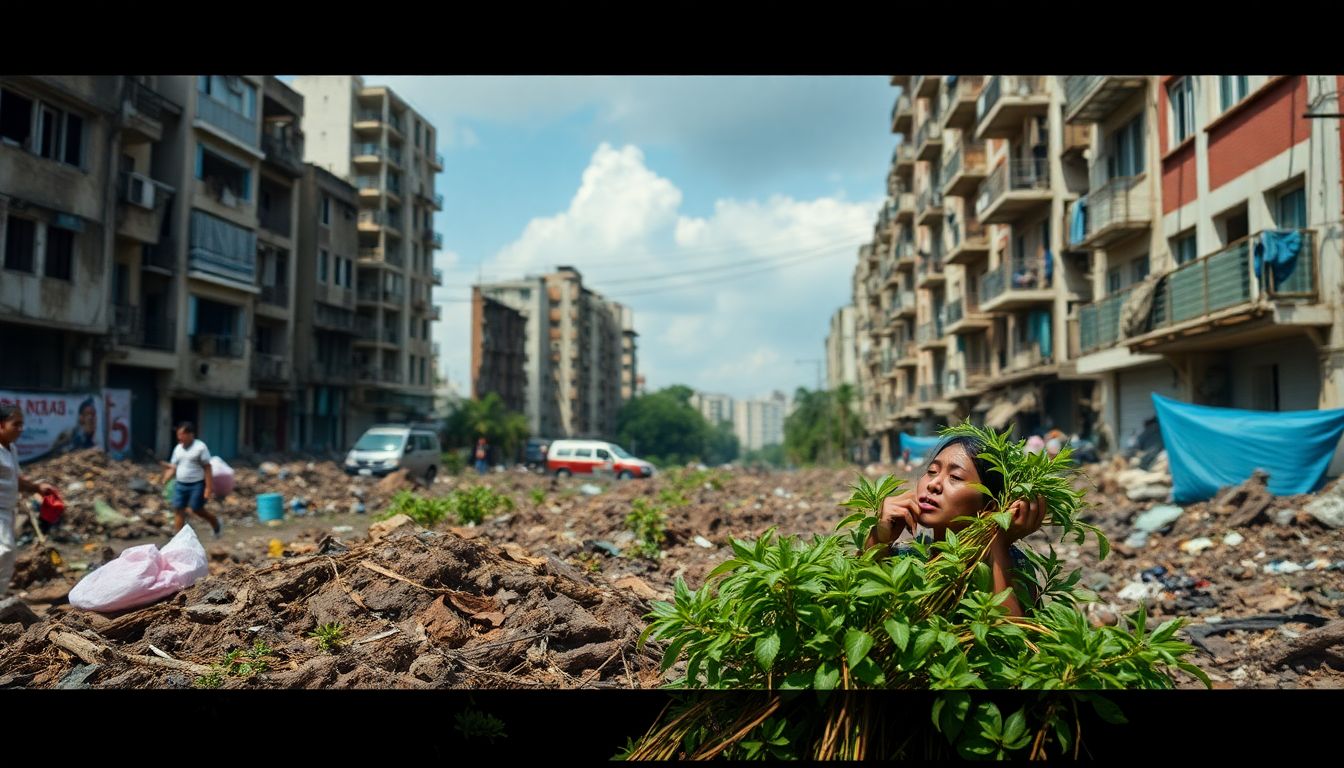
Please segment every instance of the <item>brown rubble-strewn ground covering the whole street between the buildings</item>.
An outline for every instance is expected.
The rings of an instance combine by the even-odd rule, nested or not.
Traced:
[[[856,472],[711,471],[689,486],[677,473],[616,482],[511,471],[425,488],[351,479],[331,461],[239,465],[235,492],[211,504],[223,535],[191,521],[210,576],[105,616],[73,608],[70,588],[128,546],[165,543],[171,514],[149,482],[155,467],[95,453],[60,461],[34,471],[59,479],[69,510],[52,539],[20,557],[11,596],[22,605],[0,609],[0,687],[655,687],[660,650],[636,647],[652,601],[671,599],[677,577],[703,584],[731,553],[730,537],[832,531]],[[1132,500],[1114,476],[1089,471],[1089,514],[1111,539],[1109,558],[1098,562],[1091,541],[1028,539],[1082,568],[1099,599],[1087,611],[1094,623],[1144,601],[1150,623],[1189,619],[1193,660],[1218,687],[1344,686],[1344,530],[1302,511],[1312,496],[1249,484],[1179,508],[1138,541],[1141,516],[1164,503]],[[444,496],[477,484],[513,508],[468,527],[375,523],[399,490]],[[262,523],[261,492],[284,494],[290,512],[293,499],[306,502],[304,514]],[[669,506],[671,492],[685,503]],[[641,496],[668,508],[656,561],[634,554],[626,530]],[[331,624],[341,638],[324,648],[316,632]]]

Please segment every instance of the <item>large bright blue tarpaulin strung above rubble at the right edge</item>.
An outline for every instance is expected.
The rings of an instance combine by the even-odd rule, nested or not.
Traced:
[[[1344,409],[1241,410],[1152,397],[1177,503],[1210,499],[1255,469],[1269,472],[1270,494],[1316,491],[1344,434]]]

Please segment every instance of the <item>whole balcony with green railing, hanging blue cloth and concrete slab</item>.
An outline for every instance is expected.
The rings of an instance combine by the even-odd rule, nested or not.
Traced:
[[[1159,278],[1146,332],[1125,343],[1133,351],[1220,348],[1230,335],[1242,346],[1331,324],[1329,307],[1318,304],[1316,233],[1279,233],[1273,241],[1267,231],[1245,237]],[[1257,265],[1255,253],[1266,245],[1292,247],[1285,234],[1297,239],[1292,264]]]

